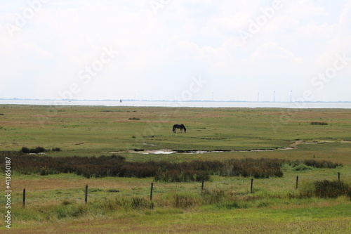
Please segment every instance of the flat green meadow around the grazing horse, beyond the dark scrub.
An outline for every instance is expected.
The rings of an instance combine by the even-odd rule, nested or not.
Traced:
[[[56,112],[52,107],[2,105],[0,110],[1,148],[20,150],[40,143],[61,148],[65,155],[133,148],[272,149],[296,139],[340,142],[350,138],[351,120],[349,110],[293,110],[286,121],[282,121],[286,110],[277,109],[65,107]],[[330,124],[311,125],[314,119]],[[178,122],[187,126],[187,134],[173,134],[171,126]],[[272,128],[272,123],[279,127]]]

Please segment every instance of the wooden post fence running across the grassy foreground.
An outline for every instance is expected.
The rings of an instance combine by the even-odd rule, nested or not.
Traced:
[[[351,175],[349,174],[342,174],[340,175],[340,172],[338,172],[337,175],[335,174],[330,174],[326,176],[328,179],[338,179],[340,181],[341,178],[347,180],[350,180]],[[272,179],[272,178],[271,178]],[[244,193],[254,193],[256,187],[262,188],[267,186],[267,180],[271,180],[270,178],[263,179],[253,179],[253,178],[233,178],[232,183],[227,183],[226,185],[218,185],[218,183],[213,183],[209,181],[201,181],[199,182],[184,182],[184,183],[159,183],[159,182],[152,182],[151,186],[143,186],[143,188],[132,188],[131,190],[136,190],[135,194],[138,195],[143,195],[144,197],[149,197],[150,201],[152,201],[154,195],[160,195],[162,193],[167,193],[167,191],[173,191],[173,192],[189,192],[191,190],[194,190],[196,193],[203,193],[205,189],[216,189],[220,188],[222,189],[223,187],[226,187],[227,189],[230,190],[237,190],[238,194],[239,192]],[[305,177],[305,176],[296,176],[293,178],[289,178],[289,181],[291,181],[290,185],[283,186],[283,178],[274,178],[275,179],[275,186],[280,188],[281,190],[285,188],[298,188],[299,182],[300,181],[308,181],[308,180],[316,180],[316,179],[321,179],[321,178],[316,178],[316,177]],[[324,178],[322,178],[324,179]],[[279,182],[280,181],[280,182]],[[286,178],[285,178],[286,181]],[[215,187],[214,187],[215,186]],[[104,190],[105,189],[105,190]],[[71,191],[71,193],[64,193],[63,191]],[[84,191],[84,192],[83,192]],[[149,191],[149,192],[147,192]],[[22,207],[25,207],[27,204],[27,200],[29,201],[35,201],[38,200],[40,202],[43,202],[44,200],[51,200],[54,195],[51,195],[50,193],[54,192],[57,197],[57,194],[62,195],[65,199],[74,199],[74,200],[81,200],[84,201],[85,203],[88,202],[88,199],[91,199],[91,197],[110,197],[110,196],[116,196],[116,194],[120,194],[120,191],[117,190],[116,188],[90,188],[88,185],[86,186],[81,186],[81,187],[76,187],[76,188],[60,188],[60,189],[46,189],[46,190],[26,190],[24,188],[22,190],[22,193],[18,191],[15,193],[14,191],[14,199],[12,202],[20,202],[22,197]],[[148,193],[150,195],[148,195]],[[65,196],[63,196],[65,195]],[[123,195],[123,194],[122,194]],[[128,194],[128,195],[133,195],[133,194]],[[16,198],[17,199],[16,199]]]

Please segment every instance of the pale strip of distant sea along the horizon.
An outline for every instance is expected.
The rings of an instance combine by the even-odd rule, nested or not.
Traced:
[[[9,105],[102,105],[132,107],[185,107],[185,108],[340,108],[351,109],[351,102],[234,102],[234,101],[139,101],[139,100],[4,100],[1,104]]]

